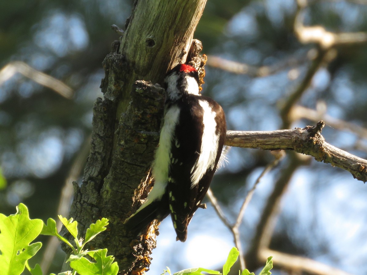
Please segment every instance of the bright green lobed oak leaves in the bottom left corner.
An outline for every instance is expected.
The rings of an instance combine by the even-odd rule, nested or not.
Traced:
[[[117,262],[115,262],[113,256],[107,256],[106,248],[96,250],[84,249],[86,243],[106,230],[108,219],[102,218],[92,223],[83,239],[78,236],[77,221],[73,221],[73,218],[68,220],[61,215],[58,217],[66,230],[73,236],[75,245],[57,232],[56,221],[54,219],[48,219],[47,224],[44,224],[40,219],[30,219],[28,208],[23,203],[19,203],[17,213],[15,214],[5,216],[0,213],[0,269],[3,272],[2,274],[18,275],[25,268],[32,275],[43,274],[39,264],[31,268],[28,263],[28,260],[42,246],[41,242],[32,243],[39,235],[55,236],[72,249],[73,253],[66,262],[70,262],[70,267],[73,270],[59,273],[59,275],[117,274],[119,271]]]

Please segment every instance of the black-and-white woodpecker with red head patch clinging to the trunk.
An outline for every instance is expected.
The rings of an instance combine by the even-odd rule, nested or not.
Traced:
[[[166,101],[159,146],[152,165],[154,186],[140,208],[125,221],[141,232],[154,219],[171,214],[177,238],[184,242],[188,224],[209,188],[224,146],[222,107],[200,94],[199,75],[179,64],[164,79]]]

